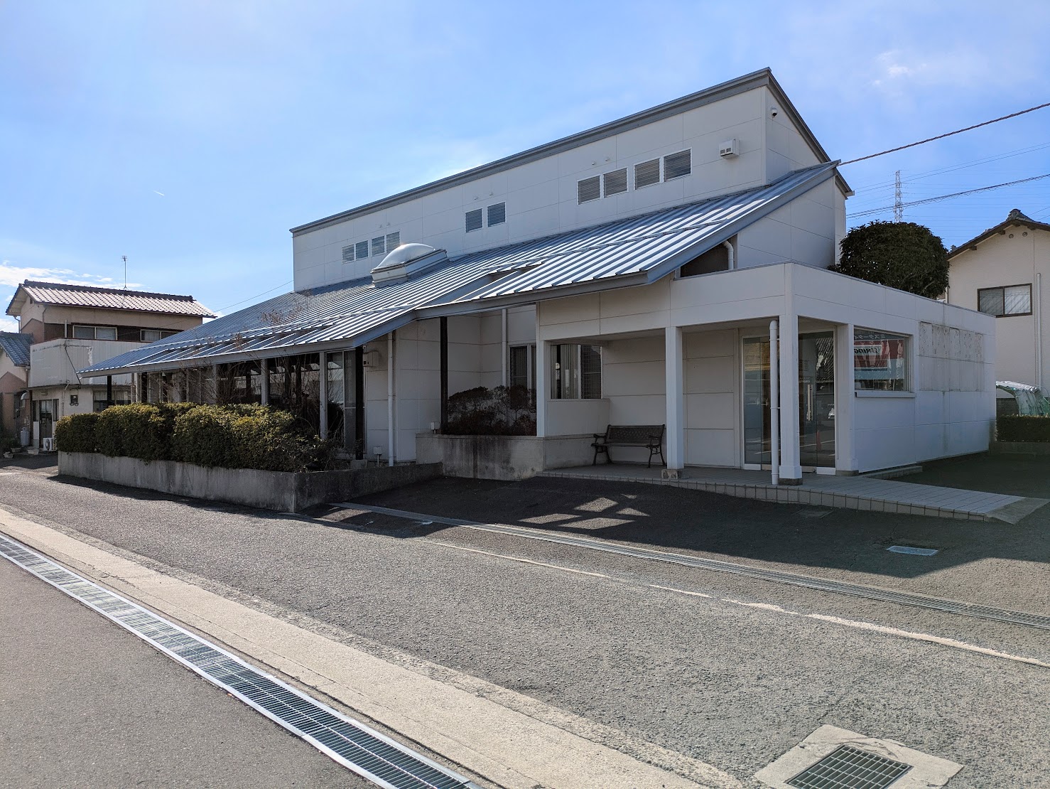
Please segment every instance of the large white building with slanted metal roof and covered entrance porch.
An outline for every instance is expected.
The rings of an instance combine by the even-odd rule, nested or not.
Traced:
[[[786,482],[987,449],[994,319],[828,271],[836,164],[763,69],[293,228],[294,292],[85,373],[390,463],[500,383],[537,392],[548,468],[609,422],[666,423],[671,469],[769,468],[776,438]]]

